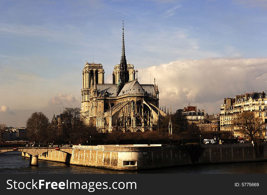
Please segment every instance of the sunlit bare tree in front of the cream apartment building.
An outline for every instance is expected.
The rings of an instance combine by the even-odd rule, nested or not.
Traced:
[[[240,131],[250,137],[253,141],[255,135],[260,130],[260,125],[262,121],[259,117],[255,117],[253,112],[243,112],[238,114],[237,118],[234,120],[234,125],[240,127]]]

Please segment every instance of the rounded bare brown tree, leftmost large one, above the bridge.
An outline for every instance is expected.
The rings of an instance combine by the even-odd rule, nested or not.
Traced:
[[[28,128],[28,135],[34,136],[34,141],[36,142],[36,136],[39,140],[42,136],[46,136],[47,127],[49,125],[49,119],[42,112],[34,112],[28,118],[26,122],[26,127]]]

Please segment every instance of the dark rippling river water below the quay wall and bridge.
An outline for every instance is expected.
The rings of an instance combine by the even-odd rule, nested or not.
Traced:
[[[29,166],[21,152],[0,154],[0,174],[267,174],[267,162],[188,165],[144,171],[114,171],[39,160],[39,167]]]

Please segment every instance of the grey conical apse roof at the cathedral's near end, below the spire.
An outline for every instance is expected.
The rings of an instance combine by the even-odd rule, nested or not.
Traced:
[[[125,83],[122,90],[118,94],[118,96],[125,95],[125,94],[146,94],[140,83],[137,79]]]

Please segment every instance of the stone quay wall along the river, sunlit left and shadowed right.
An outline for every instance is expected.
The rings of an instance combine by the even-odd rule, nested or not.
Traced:
[[[114,170],[144,170],[189,164],[211,164],[267,160],[267,144],[201,144],[199,157],[192,162],[184,145],[74,145],[72,154],[49,151],[40,160]],[[29,157],[22,152],[22,156]]]

